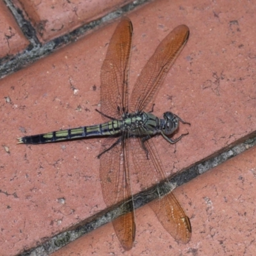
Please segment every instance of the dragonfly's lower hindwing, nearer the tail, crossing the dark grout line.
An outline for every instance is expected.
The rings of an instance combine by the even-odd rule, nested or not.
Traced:
[[[100,182],[102,195],[108,207],[131,199],[132,196],[127,136],[128,133],[124,132],[122,140],[107,138],[102,144],[102,152],[105,152],[100,156]],[[115,146],[113,147],[113,145]],[[135,236],[133,201],[131,200],[121,207],[124,208],[124,211],[130,212],[116,218],[113,221],[113,226],[124,249],[130,250]]]

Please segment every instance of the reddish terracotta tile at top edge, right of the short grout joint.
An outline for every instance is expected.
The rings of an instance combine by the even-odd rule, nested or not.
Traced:
[[[14,1],[24,10],[36,29],[41,42],[65,35],[92,20],[124,6],[129,1]]]

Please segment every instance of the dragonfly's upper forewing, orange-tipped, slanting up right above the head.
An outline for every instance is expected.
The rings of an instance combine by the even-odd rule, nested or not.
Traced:
[[[145,111],[149,102],[164,81],[180,51],[188,41],[189,28],[177,26],[159,44],[153,56],[141,71],[132,90],[129,109],[132,112]]]

